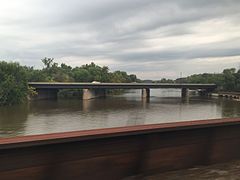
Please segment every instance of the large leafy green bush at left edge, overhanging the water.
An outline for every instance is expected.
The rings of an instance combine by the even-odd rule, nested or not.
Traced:
[[[0,62],[0,105],[13,105],[27,98],[26,69],[18,63]]]

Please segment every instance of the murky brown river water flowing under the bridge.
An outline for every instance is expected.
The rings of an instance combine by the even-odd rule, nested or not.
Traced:
[[[214,97],[180,97],[177,89],[151,90],[149,101],[140,90],[103,99],[31,101],[0,107],[0,137],[240,117],[240,102]]]

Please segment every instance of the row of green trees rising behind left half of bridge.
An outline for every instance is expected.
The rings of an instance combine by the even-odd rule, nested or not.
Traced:
[[[33,70],[29,78],[30,81],[53,81],[53,82],[136,82],[136,75],[128,75],[124,71],[109,72],[107,66],[98,66],[95,63],[85,64],[80,67],[72,68],[66,64],[60,66],[54,62],[53,58],[42,59],[44,68]],[[37,79],[35,75],[40,73]]]

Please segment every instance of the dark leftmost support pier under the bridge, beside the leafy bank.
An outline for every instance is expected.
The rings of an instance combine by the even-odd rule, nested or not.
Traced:
[[[30,97],[31,100],[57,99],[58,89],[36,89],[37,95]]]

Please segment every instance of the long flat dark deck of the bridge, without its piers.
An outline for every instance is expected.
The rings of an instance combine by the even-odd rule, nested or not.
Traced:
[[[37,89],[156,89],[156,88],[189,88],[215,89],[216,84],[175,84],[175,83],[60,83],[29,82]]]

